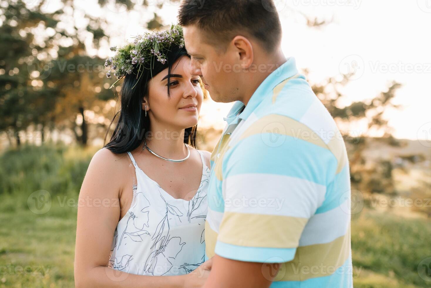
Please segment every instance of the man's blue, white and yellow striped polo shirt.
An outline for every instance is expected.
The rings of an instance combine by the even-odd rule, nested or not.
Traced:
[[[271,287],[353,287],[346,147],[295,59],[225,120],[211,155],[206,259],[280,263]]]

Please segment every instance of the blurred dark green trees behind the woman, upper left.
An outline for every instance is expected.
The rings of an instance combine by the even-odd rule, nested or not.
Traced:
[[[107,89],[112,80],[105,78],[105,59],[87,56],[89,48],[100,49],[107,42],[109,23],[82,10],[77,18],[73,0],[62,0],[62,7],[52,13],[44,11],[45,2],[29,7],[21,0],[0,1],[0,131],[13,131],[19,145],[18,132],[31,125],[41,127],[42,138],[45,127],[69,128],[78,143],[86,145],[87,112],[97,110],[95,117],[107,116],[103,107],[115,97]],[[104,9],[130,10],[145,9],[149,3],[100,0],[99,4]],[[160,22],[154,13],[148,28],[160,28]]]

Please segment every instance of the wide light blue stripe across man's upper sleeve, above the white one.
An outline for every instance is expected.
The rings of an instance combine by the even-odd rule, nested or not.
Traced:
[[[228,150],[222,167],[223,179],[238,174],[265,173],[327,185],[334,177],[337,159],[330,150],[308,141],[264,133],[251,135]]]

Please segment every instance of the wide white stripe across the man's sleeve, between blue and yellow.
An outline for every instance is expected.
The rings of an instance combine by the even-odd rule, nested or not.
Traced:
[[[326,186],[286,175],[250,173],[222,184],[225,211],[309,218],[325,199]]]

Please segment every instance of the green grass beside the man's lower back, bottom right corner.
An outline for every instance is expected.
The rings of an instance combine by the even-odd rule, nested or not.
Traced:
[[[352,219],[353,265],[362,267],[355,287],[429,287],[418,265],[431,257],[430,236],[431,223],[425,219],[362,211]]]

